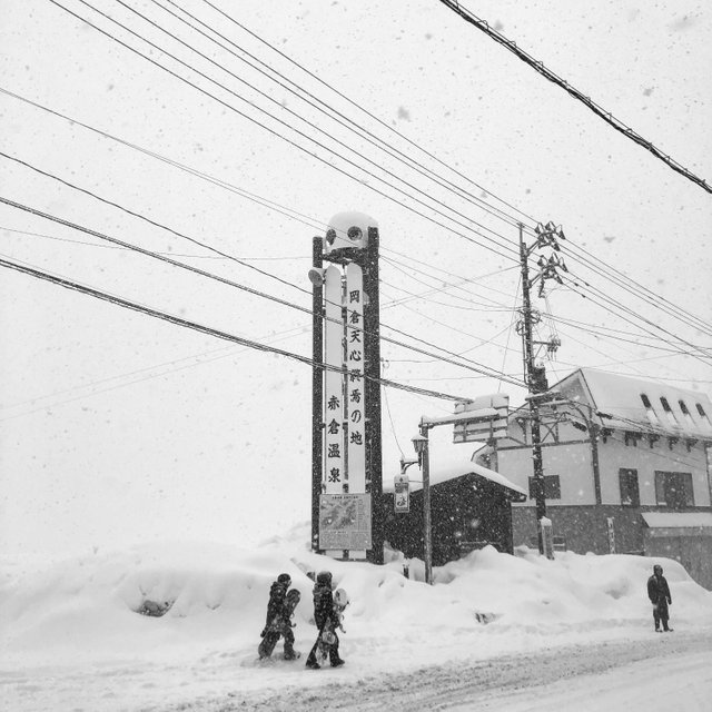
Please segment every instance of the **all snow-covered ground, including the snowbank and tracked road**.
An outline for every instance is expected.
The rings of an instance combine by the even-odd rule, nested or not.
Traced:
[[[335,562],[309,552],[308,537],[303,525],[253,550],[167,542],[3,562],[3,709],[709,709],[712,592],[674,561],[655,560],[675,629],[656,635],[650,558],[487,548],[436,568],[428,587],[395,557]],[[271,581],[288,572],[301,591],[306,654],[316,634],[307,572],[327,567],[352,600],[346,666],[257,664]],[[411,572],[422,578],[422,564]],[[147,600],[172,605],[162,617],[136,613]]]

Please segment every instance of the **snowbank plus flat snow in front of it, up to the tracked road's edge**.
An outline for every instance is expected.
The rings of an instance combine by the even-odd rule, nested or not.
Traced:
[[[308,708],[308,690],[332,675],[360,685],[512,653],[644,642],[654,639],[645,595],[653,563],[672,589],[678,640],[685,630],[712,631],[712,593],[673,561],[571,553],[547,561],[526,548],[516,556],[485,548],[435,568],[426,586],[423,562],[397,552],[384,566],[337,562],[313,554],[309,534],[305,524],[253,550],[165,542],[43,566],[8,562],[1,695],[22,712],[209,710],[228,699],[249,709],[276,690],[306,688],[298,694]],[[308,675],[303,661],[277,662],[281,643],[274,664],[258,665],[270,583],[287,572],[301,592],[295,636],[306,654],[316,636],[308,574],[324,568],[352,601],[342,635],[347,665]],[[147,609],[162,615],[140,613]]]

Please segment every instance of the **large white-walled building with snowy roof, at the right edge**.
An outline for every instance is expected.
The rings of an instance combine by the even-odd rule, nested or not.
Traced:
[[[712,589],[712,402],[699,392],[581,368],[541,406],[547,516],[560,548],[679,560]],[[475,453],[531,493],[528,406],[496,451]],[[515,546],[536,542],[534,501],[513,506]]]

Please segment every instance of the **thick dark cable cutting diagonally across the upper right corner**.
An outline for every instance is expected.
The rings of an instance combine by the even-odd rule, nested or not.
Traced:
[[[523,62],[532,67],[534,71],[538,72],[548,81],[557,85],[568,95],[571,95],[574,99],[581,101],[584,106],[589,107],[596,116],[601,117],[606,123],[612,126],[616,131],[620,131],[626,138],[630,138],[633,142],[642,146],[646,150],[649,150],[655,158],[659,158],[663,161],[669,168],[672,168],[674,171],[679,172],[681,176],[684,176],[688,180],[699,185],[701,188],[706,190],[708,192],[712,192],[712,187],[706,184],[703,178],[699,178],[692,171],[688,170],[684,166],[680,165],[676,160],[656,148],[652,141],[643,138],[640,134],[634,131],[631,127],[626,126],[619,119],[616,119],[610,111],[599,106],[595,101],[593,101],[590,97],[586,97],[584,93],[578,91],[575,87],[570,85],[565,79],[562,79],[557,75],[555,75],[551,69],[547,69],[544,66],[544,62],[534,59],[528,52],[523,49],[520,49],[516,46],[516,42],[508,40],[504,34],[491,28],[490,24],[485,20],[481,20],[475,17],[469,10],[464,8],[457,0],[441,0],[441,2],[449,8],[453,12],[457,13],[465,22],[472,24],[482,32],[484,32],[487,37],[492,38],[495,42],[502,44],[505,49],[510,50],[513,55],[518,57]]]

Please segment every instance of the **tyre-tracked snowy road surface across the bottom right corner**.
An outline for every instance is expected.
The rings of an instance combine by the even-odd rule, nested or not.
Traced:
[[[706,712],[712,699],[712,633],[651,634],[644,641],[576,645],[458,668],[423,668],[349,684],[329,684],[322,672],[305,674],[312,675],[308,686],[279,694],[263,690],[151,710]]]

